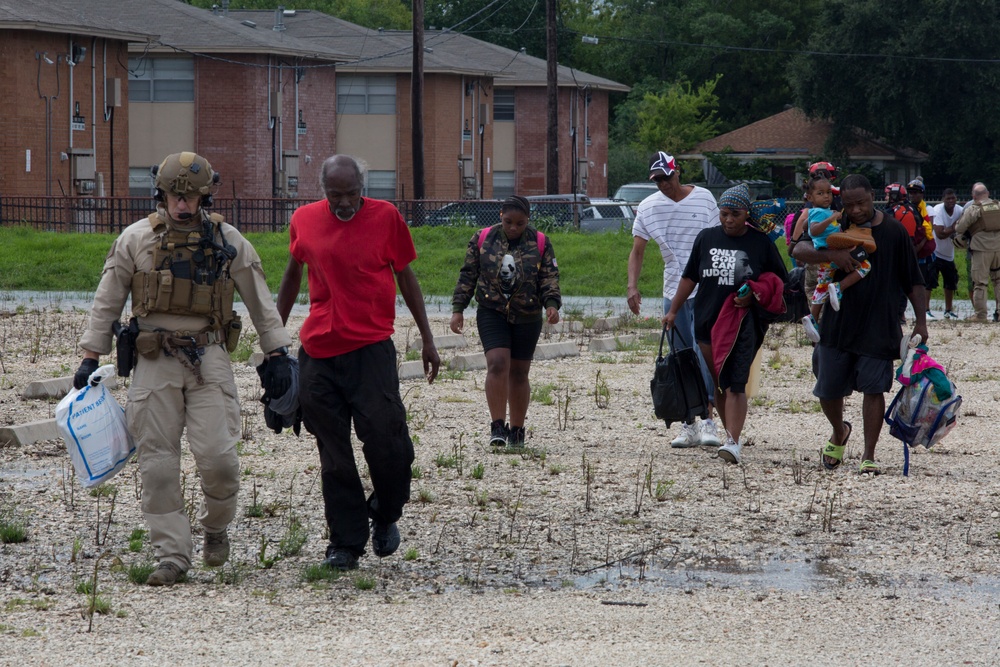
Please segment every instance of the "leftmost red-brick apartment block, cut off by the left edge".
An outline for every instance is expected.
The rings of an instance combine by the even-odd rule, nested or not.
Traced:
[[[0,7],[0,195],[125,194],[129,42],[69,3]]]

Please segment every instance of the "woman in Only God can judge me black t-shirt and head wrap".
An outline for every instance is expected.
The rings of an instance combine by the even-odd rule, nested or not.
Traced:
[[[785,310],[782,293],[785,263],[774,242],[762,231],[763,214],[775,213],[777,201],[750,201],[740,184],[719,198],[721,226],[698,234],[670,312],[663,324],[673,326],[677,311],[698,286],[694,300],[695,339],[715,380],[715,408],[726,429],[719,458],[739,463],[740,434],[747,416],[746,385],[750,366],[764,341],[768,323]],[[746,286],[746,289],[741,290]]]

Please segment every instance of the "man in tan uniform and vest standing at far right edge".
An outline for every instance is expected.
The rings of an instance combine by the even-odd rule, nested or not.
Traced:
[[[987,281],[993,282],[993,292],[1000,300],[1000,202],[990,199],[990,191],[982,183],[972,186],[972,203],[967,204],[955,224],[955,243],[964,243],[972,251],[973,320],[985,322]]]

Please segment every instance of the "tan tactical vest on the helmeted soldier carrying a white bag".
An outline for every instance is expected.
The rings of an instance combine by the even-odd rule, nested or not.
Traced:
[[[210,319],[213,331],[229,328],[235,314],[235,283],[229,274],[232,260],[215,242],[216,234],[221,237],[222,216],[213,213],[209,222],[182,230],[164,224],[159,213],[149,216],[153,229],[164,227],[164,231],[153,250],[153,269],[132,276],[132,312],[136,316],[199,315]],[[210,236],[205,234],[206,227]]]

